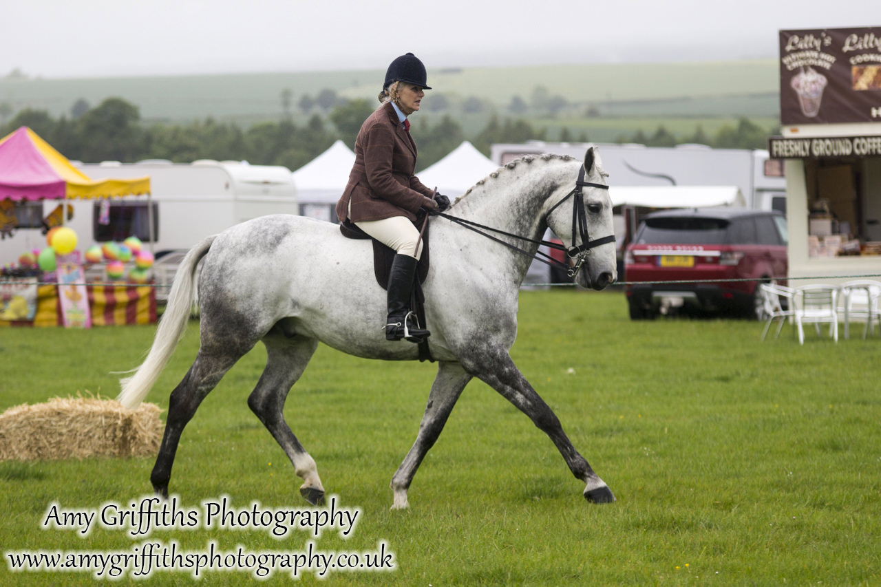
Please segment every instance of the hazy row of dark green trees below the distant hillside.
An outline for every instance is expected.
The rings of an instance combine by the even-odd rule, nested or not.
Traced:
[[[541,105],[545,112],[563,108],[564,103],[537,87],[530,96],[533,107]],[[415,121],[414,134],[418,136],[419,165],[428,167],[451,152],[466,138],[485,154],[494,143],[522,143],[528,140],[581,140],[587,133],[563,128],[557,136],[549,137],[545,128],[534,128],[522,117],[500,118],[498,114],[477,117],[486,120],[483,129],[463,128],[463,120],[475,120],[481,112],[493,112],[492,105],[478,99],[464,100],[467,112],[463,116],[450,112],[450,103],[434,108],[437,115],[420,117]],[[141,121],[137,106],[120,98],[108,98],[98,106],[90,107],[85,100],[77,100],[70,109],[70,118],[52,118],[44,110],[23,109],[0,126],[4,136],[19,126],[28,126],[45,138],[50,145],[71,160],[98,162],[118,160],[132,162],[144,159],[166,159],[190,162],[199,159],[247,160],[255,165],[281,165],[298,169],[326,150],[337,139],[350,148],[354,146],[361,123],[374,110],[367,100],[342,100],[332,91],[319,93],[315,99],[302,96],[299,108],[312,113],[306,123],[294,123],[291,115],[292,95],[282,95],[280,120],[255,123],[242,128],[235,123],[219,123],[212,118],[185,124]],[[526,100],[515,97],[507,106],[508,112],[525,113]],[[441,116],[439,110],[443,110]],[[5,117],[11,114],[2,113]],[[541,120],[545,120],[544,117]],[[726,125],[714,137],[708,137],[700,125],[692,135],[676,137],[663,125],[652,134],[638,130],[633,135],[618,137],[619,143],[641,143],[649,146],[671,146],[678,143],[700,143],[726,148],[763,148],[769,131],[741,118],[736,125]]]

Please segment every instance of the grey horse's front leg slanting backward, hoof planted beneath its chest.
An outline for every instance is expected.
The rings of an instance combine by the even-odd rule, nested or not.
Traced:
[[[462,395],[465,385],[471,380],[471,375],[466,373],[459,363],[441,362],[438,375],[434,378],[431,393],[428,394],[426,413],[419,423],[419,434],[416,442],[403,458],[401,466],[397,468],[391,478],[391,488],[395,492],[395,502],[392,509],[406,508],[407,489],[413,480],[413,475],[426,457],[426,453],[432,448],[438,436],[441,435],[444,424],[447,423],[449,412],[452,412],[455,402]]]

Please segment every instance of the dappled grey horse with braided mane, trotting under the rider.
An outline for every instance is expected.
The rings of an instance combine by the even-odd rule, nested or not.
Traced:
[[[428,348],[438,370],[416,441],[391,479],[392,509],[408,507],[413,476],[473,377],[551,438],[575,478],[584,482],[589,502],[615,501],[509,354],[518,291],[546,228],[576,259],[580,286],[600,290],[617,279],[607,176],[594,145],[583,161],[525,156],[485,177],[441,216],[430,217],[431,262],[423,291]],[[496,235],[486,239],[480,229],[460,222],[491,228]],[[605,236],[590,240],[590,234]],[[183,336],[196,295],[200,346],[168,401],[150,476],[154,491],[167,497],[183,428],[226,371],[261,341],[266,367],[248,406],[303,480],[300,494],[312,505],[321,504],[324,487],[315,460],[282,413],[318,343],[367,359],[418,359],[417,345],[383,336],[386,296],[374,278],[370,241],[346,239],[326,221],[285,214],[247,220],[205,238],[175,274],[143,363],[121,380],[117,400],[122,405],[136,406],[147,396]]]

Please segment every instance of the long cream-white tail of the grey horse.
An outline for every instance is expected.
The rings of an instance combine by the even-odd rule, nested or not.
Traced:
[[[134,408],[144,401],[153,383],[156,383],[159,374],[174,353],[174,348],[181,342],[193,309],[196,266],[208,252],[208,249],[211,249],[211,243],[214,239],[215,236],[209,236],[190,249],[189,253],[183,257],[174,275],[174,282],[168,293],[167,306],[159,320],[156,338],[153,339],[150,352],[147,353],[146,359],[139,367],[132,369],[135,371],[134,375],[123,377],[120,380],[122,392],[116,397],[116,401],[125,407]]]

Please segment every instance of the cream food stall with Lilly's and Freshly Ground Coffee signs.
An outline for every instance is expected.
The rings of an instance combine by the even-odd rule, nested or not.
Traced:
[[[881,26],[781,31],[780,84],[790,285],[881,278]]]

